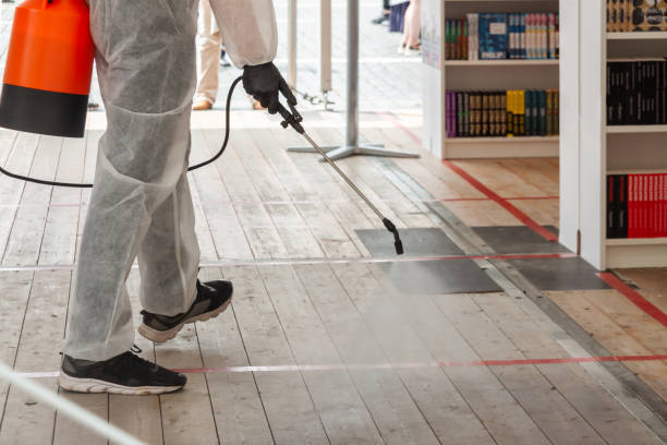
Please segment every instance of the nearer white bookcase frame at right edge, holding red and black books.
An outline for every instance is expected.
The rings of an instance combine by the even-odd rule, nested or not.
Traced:
[[[667,57],[667,33],[607,33],[605,0],[560,0],[560,242],[598,269],[667,266],[667,238],[607,239],[606,178],[667,171],[667,125],[607,125],[607,61]]]

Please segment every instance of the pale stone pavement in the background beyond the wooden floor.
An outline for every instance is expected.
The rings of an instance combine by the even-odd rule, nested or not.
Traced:
[[[4,71],[7,47],[11,31],[11,19],[15,3],[2,3],[0,22],[0,69]],[[288,67],[288,1],[276,0],[279,28],[279,48],[276,64],[287,76]],[[360,4],[360,109],[369,110],[415,110],[421,108],[421,60],[417,57],[399,56],[396,47],[400,34],[390,34],[387,26],[371,24],[379,14],[381,0],[364,0]],[[296,89],[311,96],[319,94],[319,2],[298,0],[299,47]],[[347,59],[347,0],[332,0],[332,86],[329,94],[336,104],[333,110],[345,106],[345,59]],[[239,76],[235,68],[220,70],[221,89],[216,108],[223,108],[227,87]],[[92,100],[99,103],[97,81],[93,82]],[[322,109],[301,100],[304,109]],[[237,93],[233,109],[248,109],[250,101]]]

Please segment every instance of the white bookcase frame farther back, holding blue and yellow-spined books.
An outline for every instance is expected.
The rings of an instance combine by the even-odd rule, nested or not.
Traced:
[[[445,21],[472,12],[558,12],[559,0],[424,0],[424,148],[441,159],[558,156],[558,136],[456,137],[445,130],[446,92],[551,89],[558,60],[445,60]],[[429,52],[429,51],[427,51]]]

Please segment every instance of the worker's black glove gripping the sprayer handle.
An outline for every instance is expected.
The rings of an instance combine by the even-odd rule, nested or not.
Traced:
[[[278,92],[282,93],[288,104],[296,105],[296,98],[272,62],[243,67],[243,87],[271,115],[278,111]]]

